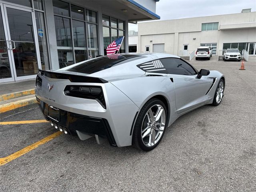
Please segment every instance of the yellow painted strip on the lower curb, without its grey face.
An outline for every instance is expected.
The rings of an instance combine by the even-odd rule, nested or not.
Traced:
[[[23,100],[19,100],[19,101],[15,101],[15,102],[6,103],[3,105],[0,105],[0,113],[4,113],[6,111],[14,110],[14,109],[24,107],[24,106],[27,106],[30,104],[34,104],[36,102],[37,102],[36,98],[32,97],[32,98],[28,98],[28,99],[23,99]]]

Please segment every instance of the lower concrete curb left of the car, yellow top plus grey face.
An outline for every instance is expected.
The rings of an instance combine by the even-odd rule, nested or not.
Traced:
[[[0,105],[0,118],[33,108],[34,106],[37,106],[36,103],[36,98],[32,97]]]

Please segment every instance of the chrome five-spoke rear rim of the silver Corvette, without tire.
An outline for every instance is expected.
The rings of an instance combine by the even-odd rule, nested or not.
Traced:
[[[151,147],[160,140],[165,121],[165,110],[160,104],[152,106],[146,112],[141,127],[141,138],[145,146]]]

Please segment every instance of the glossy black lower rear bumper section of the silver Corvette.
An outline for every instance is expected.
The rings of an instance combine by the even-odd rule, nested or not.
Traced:
[[[81,114],[76,114],[73,112],[68,112],[65,110],[60,110],[60,115],[58,120],[48,116],[48,104],[44,103],[36,97],[38,105],[42,110],[44,117],[60,125],[68,131],[69,134],[76,134],[76,131],[84,132],[87,134],[96,134],[101,137],[108,139],[110,146],[117,146],[115,138],[112,134],[108,121],[104,118],[86,116]]]

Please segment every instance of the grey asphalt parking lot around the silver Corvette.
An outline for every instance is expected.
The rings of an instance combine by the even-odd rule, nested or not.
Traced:
[[[225,75],[222,103],[180,117],[154,150],[55,135],[0,166],[0,191],[256,191],[256,63],[191,64]],[[0,121],[24,120],[44,118],[34,108]],[[0,125],[2,162],[54,133],[48,122]]]

